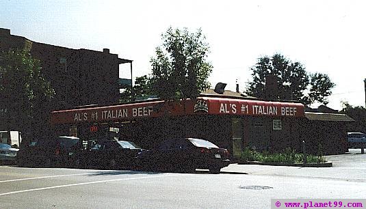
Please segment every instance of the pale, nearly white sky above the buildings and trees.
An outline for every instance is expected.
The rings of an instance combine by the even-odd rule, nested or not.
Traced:
[[[336,84],[328,107],[365,107],[366,1],[21,1],[0,0],[0,27],[35,42],[87,48],[133,60],[133,77],[151,73],[150,59],[168,27],[202,29],[213,65],[211,87],[244,91],[250,68],[280,53]],[[129,65],[120,77],[130,78]]]

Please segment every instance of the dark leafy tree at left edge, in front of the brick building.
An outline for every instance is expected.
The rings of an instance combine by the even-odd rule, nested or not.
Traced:
[[[12,49],[0,57],[2,128],[27,130],[46,122],[55,92],[42,76],[40,61],[27,51]]]

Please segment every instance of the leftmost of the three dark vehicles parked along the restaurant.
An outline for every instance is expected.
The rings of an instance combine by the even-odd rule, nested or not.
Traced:
[[[73,167],[83,141],[77,137],[34,139],[22,145],[16,156],[19,167]]]

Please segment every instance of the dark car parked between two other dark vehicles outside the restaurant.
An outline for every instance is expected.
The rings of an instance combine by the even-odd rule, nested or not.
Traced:
[[[101,169],[133,169],[136,157],[143,149],[131,141],[94,141],[80,153],[81,167]]]

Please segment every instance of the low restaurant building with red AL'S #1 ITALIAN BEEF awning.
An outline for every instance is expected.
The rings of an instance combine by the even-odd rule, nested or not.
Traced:
[[[230,150],[235,158],[246,147],[270,152],[292,148],[301,152],[303,141],[313,154],[319,151],[320,143],[324,154],[346,152],[342,124],[352,119],[304,110],[298,102],[207,95],[192,100],[144,100],[53,111],[51,124],[57,135],[92,141],[114,131],[120,140],[134,141],[148,149],[171,137],[207,139]]]

